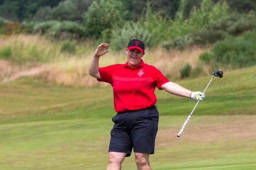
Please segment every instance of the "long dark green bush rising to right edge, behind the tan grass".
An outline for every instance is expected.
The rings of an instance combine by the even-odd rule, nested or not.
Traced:
[[[201,29],[175,37],[169,44],[183,50],[191,45],[214,44],[230,35],[237,36],[254,28],[256,28],[256,13],[231,13],[216,21],[212,20]]]

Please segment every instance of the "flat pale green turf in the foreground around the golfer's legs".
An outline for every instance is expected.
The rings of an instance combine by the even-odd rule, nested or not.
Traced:
[[[255,169],[256,116],[194,116],[177,138],[184,118],[161,116],[154,169]],[[108,118],[1,125],[1,169],[105,169],[112,125]],[[123,169],[135,169],[134,154]]]

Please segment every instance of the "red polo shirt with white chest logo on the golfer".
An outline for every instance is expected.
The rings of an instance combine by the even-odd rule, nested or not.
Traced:
[[[144,64],[131,68],[128,63],[99,69],[101,79],[113,86],[116,112],[142,109],[156,104],[155,88],[169,82],[156,67]]]

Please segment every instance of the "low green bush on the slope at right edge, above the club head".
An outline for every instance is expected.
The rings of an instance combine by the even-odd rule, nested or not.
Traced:
[[[210,53],[203,53],[199,58],[218,65],[230,65],[234,68],[247,67],[256,64],[255,44],[256,30],[219,41],[212,47]]]

